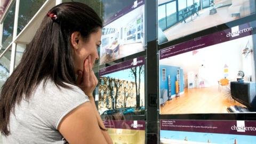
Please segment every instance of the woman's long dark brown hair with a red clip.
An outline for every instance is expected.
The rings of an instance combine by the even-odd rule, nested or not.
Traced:
[[[53,17],[56,15],[57,17]],[[57,18],[57,19],[56,19]],[[102,21],[91,7],[77,2],[54,6],[41,23],[22,59],[6,80],[0,95],[0,130],[9,135],[10,114],[22,99],[29,99],[36,86],[50,78],[57,86],[75,84],[71,34],[79,31],[88,39],[102,28]],[[65,82],[65,83],[64,83]]]

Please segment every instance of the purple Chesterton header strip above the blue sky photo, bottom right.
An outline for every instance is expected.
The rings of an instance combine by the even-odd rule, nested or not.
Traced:
[[[256,136],[255,121],[161,120],[161,130]]]

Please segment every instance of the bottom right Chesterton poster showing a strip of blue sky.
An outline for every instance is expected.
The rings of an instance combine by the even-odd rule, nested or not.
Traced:
[[[161,144],[252,144],[256,121],[161,120]]]

